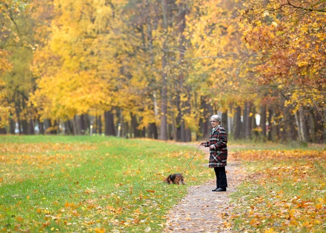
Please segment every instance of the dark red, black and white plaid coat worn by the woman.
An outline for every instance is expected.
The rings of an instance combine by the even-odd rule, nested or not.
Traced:
[[[226,166],[226,159],[228,157],[228,148],[226,146],[228,138],[225,129],[218,125],[210,133],[208,141],[205,141],[204,146],[208,147],[214,145],[211,149],[209,148],[209,167],[224,167]]]

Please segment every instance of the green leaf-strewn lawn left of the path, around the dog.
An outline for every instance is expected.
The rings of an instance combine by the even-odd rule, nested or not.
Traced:
[[[160,232],[196,147],[108,137],[0,137],[0,232]],[[212,175],[199,151],[188,185]]]

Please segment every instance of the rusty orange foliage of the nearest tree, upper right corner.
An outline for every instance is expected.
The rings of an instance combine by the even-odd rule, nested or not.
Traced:
[[[285,106],[292,104],[295,111],[300,106],[316,107],[325,121],[326,60],[321,47],[325,44],[326,21],[325,13],[318,11],[325,5],[318,0],[307,3],[313,7],[302,4],[299,0],[257,1],[241,13],[243,38],[257,55],[252,69],[254,81],[261,86],[276,85],[279,92],[286,93]],[[278,15],[286,20],[280,21]]]

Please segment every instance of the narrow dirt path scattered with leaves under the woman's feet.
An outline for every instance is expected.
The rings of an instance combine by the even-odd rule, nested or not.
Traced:
[[[209,157],[208,147],[200,147]],[[207,168],[208,169],[208,168]],[[228,188],[226,192],[212,192],[216,180],[207,181],[201,186],[191,186],[188,194],[167,215],[164,233],[232,232],[230,221],[233,206],[229,195],[237,189],[243,175],[238,172],[239,165],[228,155],[226,166]],[[214,171],[212,170],[212,173]],[[214,174],[215,177],[215,174]]]

